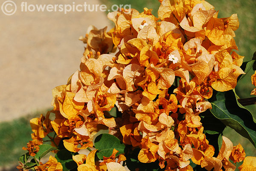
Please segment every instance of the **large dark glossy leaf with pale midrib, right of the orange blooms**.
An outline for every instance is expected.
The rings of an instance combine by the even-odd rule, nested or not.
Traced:
[[[250,111],[238,105],[233,90],[217,93],[215,91],[209,101],[212,104],[210,111],[216,118],[249,139],[256,147],[256,123],[253,122]]]

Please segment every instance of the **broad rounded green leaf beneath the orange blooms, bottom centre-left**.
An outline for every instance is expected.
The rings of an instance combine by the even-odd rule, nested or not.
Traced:
[[[97,156],[100,160],[103,160],[103,156],[110,157],[114,148],[119,151],[116,156],[124,153],[125,150],[125,145],[118,138],[110,134],[100,134],[96,137],[94,146],[98,149]]]

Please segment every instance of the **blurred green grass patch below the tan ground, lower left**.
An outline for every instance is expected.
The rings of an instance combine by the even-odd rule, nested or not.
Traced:
[[[26,143],[32,140],[29,120],[40,117],[46,111],[37,111],[26,117],[0,123],[0,166],[18,164],[19,157],[25,153],[22,147],[26,147]]]

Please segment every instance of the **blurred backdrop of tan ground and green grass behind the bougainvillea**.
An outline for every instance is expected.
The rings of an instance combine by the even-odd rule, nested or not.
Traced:
[[[7,16],[0,11],[0,171],[17,170],[18,158],[24,151],[32,133],[29,120],[51,109],[51,90],[66,84],[68,77],[79,69],[84,44],[78,40],[88,26],[97,28],[113,23],[107,12],[21,12],[23,0],[17,4],[15,14]],[[0,0],[0,5],[5,0]],[[26,1],[25,1],[26,2]],[[157,0],[76,0],[76,4],[130,4],[131,8],[143,11],[153,9],[157,16],[160,3]],[[238,14],[240,27],[236,33],[238,54],[249,61],[256,51],[256,1],[255,0],[207,0],[219,10],[218,17]],[[29,4],[72,4],[72,0],[33,0]],[[236,91],[241,98],[253,97],[250,91],[251,70],[238,84]],[[256,105],[247,106],[256,117]],[[224,136],[234,145],[239,142],[247,155],[256,156],[249,140],[230,128]]]

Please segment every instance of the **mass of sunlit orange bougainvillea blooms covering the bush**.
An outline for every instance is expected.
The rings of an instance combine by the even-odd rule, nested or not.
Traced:
[[[244,159],[241,145],[233,148],[223,137],[213,157],[215,149],[199,115],[211,108],[207,99],[213,89],[233,89],[237,77],[245,74],[240,68],[243,57],[233,51],[238,50],[233,39],[237,15],[218,18],[218,11],[204,0],[160,3],[158,17],[147,8],[142,13],[121,9],[108,14],[115,24],[110,31],[88,28],[79,38],[86,43],[80,70],[67,85],[52,90],[54,109],[31,120],[34,140],[55,131],[52,145],[65,138],[64,147],[78,152],[93,147],[93,136],[109,128],[125,144],[141,149],[140,162],[158,160],[166,171],[192,171],[189,159],[208,171],[235,170],[229,158]],[[114,106],[121,118],[109,114]],[[54,120],[49,119],[51,113]],[[73,156],[79,171],[125,171],[120,162],[126,158],[119,155],[116,162],[116,150],[99,165],[95,153]],[[50,158],[36,170],[50,163],[62,169]]]

